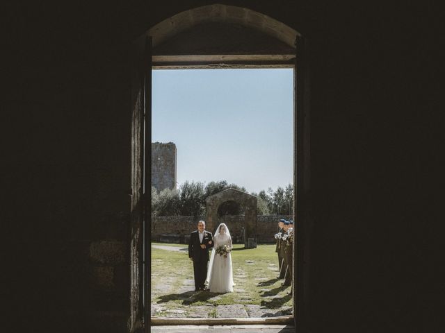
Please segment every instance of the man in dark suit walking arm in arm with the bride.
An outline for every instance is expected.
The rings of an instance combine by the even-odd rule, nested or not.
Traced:
[[[190,235],[188,242],[188,257],[193,261],[195,275],[195,291],[204,290],[207,277],[207,263],[209,262],[209,248],[213,247],[211,232],[205,231],[206,223],[199,221],[197,230]]]

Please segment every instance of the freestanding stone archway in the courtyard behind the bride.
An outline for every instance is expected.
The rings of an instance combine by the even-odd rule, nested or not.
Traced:
[[[239,191],[238,189],[225,189],[206,199],[206,223],[208,230],[215,230],[218,226],[218,208],[227,201],[234,201],[243,207],[244,211],[244,246],[256,248],[258,242],[257,232],[257,197]]]

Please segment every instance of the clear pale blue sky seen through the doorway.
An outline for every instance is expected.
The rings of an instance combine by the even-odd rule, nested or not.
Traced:
[[[293,181],[293,69],[159,69],[152,80],[152,142],[176,144],[179,185]]]

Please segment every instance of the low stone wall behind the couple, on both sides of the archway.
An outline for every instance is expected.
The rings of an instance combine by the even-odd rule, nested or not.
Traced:
[[[277,232],[279,219],[292,219],[286,215],[258,215],[257,234],[259,243],[275,243],[273,235]],[[196,230],[197,221],[204,220],[204,216],[152,216],[152,241],[166,243],[188,242],[188,237]],[[219,223],[227,224],[234,243],[243,243],[241,232],[244,225],[243,215],[226,215],[220,218]],[[215,230],[208,230],[212,233]]]

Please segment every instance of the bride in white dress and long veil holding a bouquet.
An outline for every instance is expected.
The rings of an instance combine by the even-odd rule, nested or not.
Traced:
[[[209,269],[207,271],[207,289],[211,293],[230,293],[234,291],[234,278],[232,274],[232,255],[219,255],[216,253],[218,246],[227,245],[232,250],[232,237],[225,223],[218,225],[213,236],[213,249],[211,251]]]

